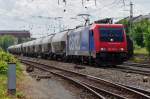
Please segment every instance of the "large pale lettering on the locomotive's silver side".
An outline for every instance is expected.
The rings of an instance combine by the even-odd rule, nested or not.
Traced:
[[[69,35],[69,50],[80,50],[80,32]]]

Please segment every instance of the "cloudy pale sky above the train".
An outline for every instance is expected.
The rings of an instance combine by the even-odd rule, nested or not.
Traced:
[[[150,13],[150,0],[0,0],[0,30],[30,30],[38,38],[83,24],[78,14],[90,14],[91,22],[127,17],[131,1],[134,16]]]

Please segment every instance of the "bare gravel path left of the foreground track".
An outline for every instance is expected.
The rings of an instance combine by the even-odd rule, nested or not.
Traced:
[[[25,70],[25,66],[23,66]],[[94,99],[91,94],[74,86],[59,77],[34,69],[34,72],[26,73],[24,79],[19,82],[25,99]],[[50,79],[37,80],[38,75],[50,75]]]

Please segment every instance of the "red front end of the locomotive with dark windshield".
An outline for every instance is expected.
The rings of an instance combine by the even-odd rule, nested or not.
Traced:
[[[120,64],[127,59],[127,40],[122,24],[94,24],[92,28],[98,62]]]

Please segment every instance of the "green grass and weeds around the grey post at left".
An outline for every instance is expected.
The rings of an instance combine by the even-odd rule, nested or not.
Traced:
[[[7,94],[7,70],[9,62],[16,63],[17,79],[22,78],[22,69],[20,62],[13,55],[0,50],[0,99],[12,99]],[[16,97],[21,97],[23,94],[17,90]],[[15,99],[19,99],[15,98]]]

